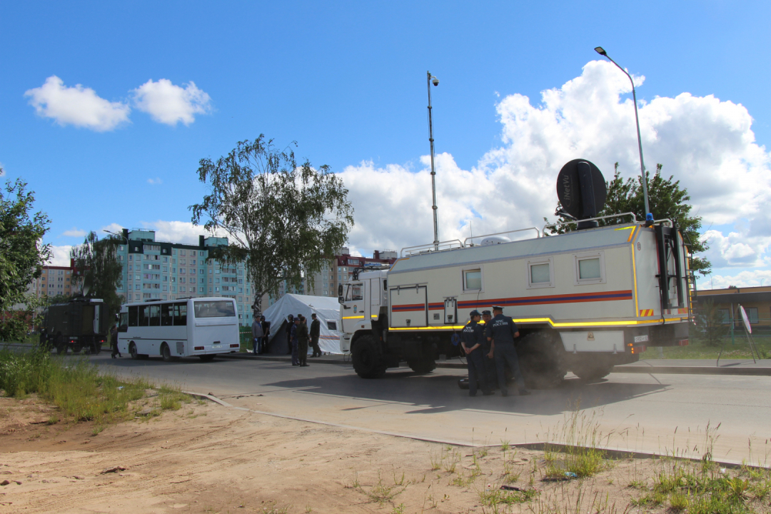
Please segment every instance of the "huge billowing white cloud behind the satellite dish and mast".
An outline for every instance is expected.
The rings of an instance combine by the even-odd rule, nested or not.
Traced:
[[[644,77],[635,77],[635,84],[643,82]],[[519,94],[501,99],[500,147],[471,170],[461,170],[449,153],[436,156],[440,240],[463,240],[470,223],[476,234],[540,229],[542,217],[554,219],[555,180],[569,160],[591,160],[606,179],[617,161],[625,176],[639,173],[634,107],[631,99],[621,98],[627,92],[630,84],[618,69],[593,61],[581,76],[542,92],[538,105]],[[766,227],[756,236],[771,236],[771,218],[763,209],[771,200],[771,159],[755,143],[752,118],[743,106],[682,93],[641,105],[639,115],[648,169],[662,163],[666,176],[680,180],[705,226],[746,218]],[[414,172],[369,162],[342,171],[355,208],[353,247],[399,250],[433,240],[427,156],[421,164]],[[730,244],[717,244],[716,234],[709,237],[725,249],[721,258],[729,265],[763,262],[763,239],[734,237]]]

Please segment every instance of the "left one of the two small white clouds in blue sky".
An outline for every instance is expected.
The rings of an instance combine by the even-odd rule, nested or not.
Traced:
[[[59,125],[74,125],[105,132],[129,120],[130,107],[123,102],[109,102],[91,88],[77,84],[64,86],[52,75],[45,83],[24,93],[39,116],[51,118]]]

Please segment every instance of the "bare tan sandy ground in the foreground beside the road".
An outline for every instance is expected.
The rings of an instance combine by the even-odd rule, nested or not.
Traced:
[[[653,471],[621,459],[591,479],[548,482],[544,452],[450,447],[208,401],[96,435],[89,423],[48,425],[52,415],[35,398],[0,398],[0,513],[628,512],[644,493],[630,484]],[[485,505],[501,485],[534,498]]]

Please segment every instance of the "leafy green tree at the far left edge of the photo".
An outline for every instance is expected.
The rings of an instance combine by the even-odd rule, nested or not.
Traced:
[[[0,190],[0,339],[5,341],[21,339],[28,330],[39,302],[27,286],[51,258],[51,245],[40,242],[50,220],[45,213],[33,214],[33,203],[35,193],[21,179]]]

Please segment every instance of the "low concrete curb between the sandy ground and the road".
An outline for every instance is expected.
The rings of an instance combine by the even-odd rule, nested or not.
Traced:
[[[292,419],[298,422],[305,422],[305,423],[314,423],[316,425],[326,425],[326,426],[332,426],[335,428],[345,428],[348,430],[358,430],[360,432],[370,432],[374,434],[381,434],[381,435],[391,435],[392,437],[400,437],[400,438],[406,438],[406,439],[414,439],[416,441],[424,441],[424,442],[433,442],[438,443],[441,445],[453,445],[453,446],[463,446],[466,448],[498,448],[501,445],[493,444],[493,445],[483,445],[480,443],[475,442],[465,442],[465,441],[454,441],[452,439],[439,439],[439,438],[432,438],[432,437],[426,437],[421,435],[410,435],[410,434],[402,434],[399,432],[388,432],[385,430],[375,430],[373,428],[362,428],[362,427],[356,427],[352,425],[342,425],[339,423],[332,423],[332,422],[322,422],[315,419],[308,419],[308,418],[298,418],[297,416],[290,416],[290,415],[284,415],[284,414],[277,414],[275,412],[265,412],[265,411],[258,411],[254,410],[252,408],[245,408],[245,407],[236,407],[235,405],[231,405],[227,403],[227,401],[222,401],[220,398],[217,398],[214,395],[204,395],[203,393],[197,393],[194,391],[182,391],[186,395],[191,396],[198,396],[200,398],[207,398],[207,400],[213,401],[214,403],[217,403],[218,405],[221,405],[225,408],[234,408],[238,411],[244,411],[244,412],[254,412],[254,414],[261,414],[261,415],[267,415],[267,416],[273,416],[274,418],[283,418],[283,419]],[[513,443],[510,444],[510,446],[513,446],[514,448],[527,448],[530,450],[537,450],[537,451],[554,451],[557,450],[558,452],[567,453],[574,449],[584,449],[584,450],[590,450],[590,449],[599,449],[602,452],[604,452],[608,457],[614,458],[614,459],[680,459],[680,460],[689,460],[692,462],[700,462],[702,459],[699,459],[698,457],[689,457],[689,456],[672,456],[672,455],[666,455],[661,453],[651,453],[651,452],[635,452],[633,450],[624,450],[624,449],[618,449],[618,448],[602,448],[601,446],[598,446],[597,448],[591,448],[588,446],[576,446],[576,445],[565,445],[557,442],[520,442],[520,443]],[[745,462],[736,462],[731,460],[715,460],[712,461],[716,464],[723,465],[727,468],[733,468],[733,469],[739,469],[742,467],[748,467],[748,468],[754,468],[754,469],[767,469],[766,467],[763,467],[762,465],[748,465]]]

